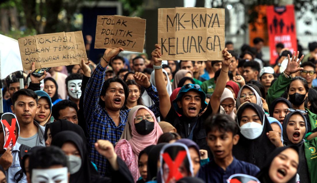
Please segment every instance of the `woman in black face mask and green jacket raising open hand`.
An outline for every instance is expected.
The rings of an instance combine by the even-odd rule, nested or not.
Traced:
[[[275,83],[268,89],[266,101],[268,105],[270,105],[275,98],[281,97],[285,90],[287,90],[292,108],[307,111],[304,115],[309,122],[307,123],[307,129],[308,132],[310,132],[317,127],[317,115],[305,108],[305,100],[307,100],[309,90],[307,81],[302,77],[290,77],[291,74],[303,70],[302,67],[299,67],[299,63],[303,59],[303,56],[296,61],[298,54],[299,52],[297,52],[297,55],[295,55],[294,52],[292,58],[288,56],[287,67],[277,78]]]

